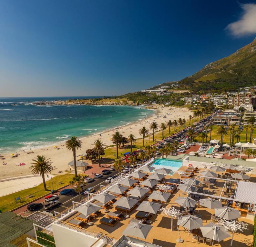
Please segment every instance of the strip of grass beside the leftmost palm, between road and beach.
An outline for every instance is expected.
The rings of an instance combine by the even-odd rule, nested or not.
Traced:
[[[63,174],[56,177],[53,177],[53,186],[54,189],[57,190],[58,188],[61,188],[65,185],[68,185],[68,182],[74,177],[74,174]],[[0,210],[3,211],[9,211],[14,209],[15,207],[21,206],[27,202],[30,202],[38,197],[41,197],[47,193],[49,193],[52,190],[52,181],[48,180],[46,181],[46,187],[49,191],[44,190],[44,185],[41,183],[40,185],[24,189],[15,193],[12,193],[10,195],[6,195],[3,197],[0,197]],[[32,194],[33,197],[28,197],[28,195]],[[20,197],[21,202],[16,203],[15,198]]]

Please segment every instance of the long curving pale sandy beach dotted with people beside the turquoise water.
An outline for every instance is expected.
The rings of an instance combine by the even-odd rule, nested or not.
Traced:
[[[135,135],[136,138],[141,138],[138,134],[138,130],[142,126],[146,126],[149,128],[150,123],[156,121],[157,123],[168,122],[169,120],[174,120],[180,117],[188,119],[189,115],[192,115],[192,112],[188,110],[188,108],[175,108],[175,107],[161,107],[156,109],[156,113],[151,115],[148,118],[140,120],[136,123],[131,123],[126,126],[120,127],[118,130],[124,136],[128,136],[128,134],[132,133]],[[167,118],[163,118],[166,116]],[[91,148],[92,143],[96,139],[101,139],[105,145],[112,145],[113,143],[110,141],[112,133],[116,130],[109,130],[107,132],[101,133],[102,136],[99,134],[81,138],[82,140],[82,149],[77,151],[77,155],[85,153],[88,148]],[[73,160],[73,155],[71,151],[68,151],[65,148],[65,141],[56,143],[56,145],[52,145],[45,148],[35,149],[35,150],[25,150],[25,152],[18,152],[17,157],[12,158],[11,154],[2,154],[5,160],[1,160],[0,163],[0,179],[3,178],[12,178],[18,176],[26,176],[31,174],[30,162],[32,159],[36,157],[36,155],[45,155],[47,158],[50,158],[53,162],[54,169],[53,174],[59,175],[63,173],[58,173],[59,171],[65,172],[68,168],[67,163]],[[54,146],[58,146],[59,149],[56,149]],[[4,163],[7,163],[4,165]],[[25,163],[23,166],[19,166],[18,164]]]

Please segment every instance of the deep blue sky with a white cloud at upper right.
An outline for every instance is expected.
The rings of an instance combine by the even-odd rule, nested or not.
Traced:
[[[120,95],[182,79],[255,38],[246,4],[0,0],[0,97]]]

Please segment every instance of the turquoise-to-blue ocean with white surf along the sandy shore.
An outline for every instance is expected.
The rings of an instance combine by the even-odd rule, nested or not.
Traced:
[[[154,114],[143,106],[32,105],[72,98],[0,98],[0,154],[91,136]]]

